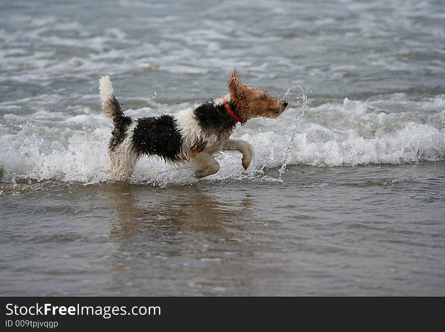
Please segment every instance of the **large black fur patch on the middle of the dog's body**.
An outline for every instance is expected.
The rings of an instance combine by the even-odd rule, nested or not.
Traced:
[[[138,119],[133,131],[133,148],[145,155],[158,155],[164,160],[180,160],[182,136],[171,115]]]

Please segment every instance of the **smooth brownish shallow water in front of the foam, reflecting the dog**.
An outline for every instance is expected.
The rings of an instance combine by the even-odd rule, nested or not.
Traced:
[[[2,295],[445,295],[445,164],[2,199]],[[273,170],[278,173],[278,169]]]

